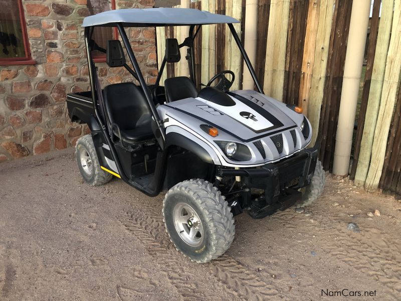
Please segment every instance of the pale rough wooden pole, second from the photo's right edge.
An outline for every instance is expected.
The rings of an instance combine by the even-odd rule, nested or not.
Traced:
[[[370,82],[369,98],[366,107],[365,125],[363,127],[362,140],[358,165],[355,173],[355,185],[365,184],[372,153],[373,134],[376,127],[377,114],[380,106],[380,95],[383,87],[384,71],[388,45],[390,42],[391,22],[393,17],[394,0],[383,0],[379,31],[377,34],[376,51],[374,55],[372,79]]]

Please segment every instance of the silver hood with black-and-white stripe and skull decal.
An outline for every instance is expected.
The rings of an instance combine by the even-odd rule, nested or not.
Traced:
[[[281,160],[304,148],[310,141],[311,132],[306,139],[299,126],[304,115],[296,113],[286,104],[253,90],[227,92],[226,102],[213,97],[186,98],[157,107],[160,117],[168,118],[166,132],[172,130],[195,131],[202,140],[212,147],[214,140],[234,141],[246,144],[252,153],[249,162],[233,162],[219,147],[220,161],[230,166],[258,166],[266,162]],[[305,126],[309,126],[305,124]],[[207,124],[219,129],[214,138],[200,129]],[[180,129],[178,129],[180,128]],[[277,140],[277,139],[279,140]],[[281,144],[281,147],[278,146]],[[223,156],[221,156],[223,155]]]

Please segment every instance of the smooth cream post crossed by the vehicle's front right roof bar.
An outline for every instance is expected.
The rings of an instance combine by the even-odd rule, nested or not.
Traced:
[[[256,41],[258,34],[258,0],[247,0],[245,10],[245,51],[248,54],[249,60],[252,66],[255,66],[256,62]],[[251,73],[248,70],[245,62],[243,64],[243,89],[254,89],[255,83],[252,79]]]

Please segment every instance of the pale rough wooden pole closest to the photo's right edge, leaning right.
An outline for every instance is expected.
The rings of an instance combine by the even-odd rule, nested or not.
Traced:
[[[370,167],[365,182],[367,191],[376,190],[381,177],[385,146],[401,71],[401,51],[399,49],[401,49],[401,0],[395,0],[380,108],[374,130]]]

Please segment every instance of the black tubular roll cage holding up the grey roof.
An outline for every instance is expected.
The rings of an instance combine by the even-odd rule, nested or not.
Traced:
[[[136,25],[136,24],[133,24],[132,27],[138,27],[137,25],[136,26],[134,26],[134,25]],[[169,26],[169,25],[173,26],[173,24],[157,24],[157,26]],[[249,71],[251,73],[251,76],[252,76],[252,78],[253,78],[253,80],[255,82],[255,85],[256,85],[258,91],[260,93],[263,93],[262,87],[261,87],[261,85],[259,83],[259,80],[258,80],[258,78],[256,76],[255,70],[252,67],[252,64],[251,64],[251,62],[250,62],[250,60],[248,58],[247,53],[245,52],[244,46],[242,45],[241,40],[238,37],[237,32],[235,31],[235,28],[234,28],[233,24],[228,23],[227,25],[229,26],[231,34],[233,35],[234,40],[236,41],[237,46],[240,49],[240,52],[241,52],[241,54],[243,56],[243,59],[244,59],[245,63],[247,64],[247,67],[248,67],[248,69],[249,69]],[[108,26],[110,26],[110,25],[108,25]],[[112,157],[115,159],[115,164],[116,164],[116,167],[117,167],[117,170],[118,170],[118,173],[119,173],[121,179],[124,182],[128,183],[129,185],[131,185],[132,187],[142,191],[143,193],[145,193],[145,194],[147,194],[149,196],[156,196],[161,190],[162,179],[163,179],[164,174],[165,174],[165,166],[166,166],[166,159],[167,159],[167,148],[169,146],[168,143],[167,143],[167,146],[165,146],[166,145],[166,143],[165,143],[166,134],[165,134],[164,126],[163,126],[163,120],[160,119],[160,116],[159,116],[159,114],[158,114],[158,112],[156,110],[156,107],[155,107],[154,103],[153,103],[153,97],[150,94],[149,89],[147,88],[145,79],[143,78],[143,75],[142,75],[142,72],[140,70],[139,64],[138,64],[138,62],[137,62],[137,60],[135,58],[135,55],[134,55],[134,53],[132,51],[132,47],[130,46],[127,34],[126,34],[125,30],[124,30],[124,26],[121,23],[114,23],[114,24],[111,24],[111,26],[112,27],[117,27],[117,29],[118,29],[119,35],[120,35],[120,37],[122,39],[122,42],[124,43],[124,47],[125,47],[125,49],[127,51],[127,55],[128,55],[128,57],[130,59],[130,62],[132,64],[132,66],[133,66],[133,70],[126,63],[124,65],[124,67],[139,82],[139,84],[140,84],[140,86],[141,86],[141,88],[142,88],[142,90],[143,90],[143,92],[145,94],[146,100],[148,102],[149,108],[150,108],[152,116],[153,116],[153,119],[156,122],[156,129],[155,130],[156,130],[157,134],[161,138],[161,140],[159,138],[157,138],[157,141],[159,142],[159,145],[160,145],[160,147],[162,149],[162,152],[157,155],[155,174],[154,174],[153,181],[152,181],[152,183],[151,183],[151,185],[149,187],[144,188],[141,185],[139,185],[138,183],[130,180],[125,175],[124,169],[122,168],[121,163],[118,160],[118,156],[117,156],[114,144],[111,141],[109,133],[107,132],[107,126],[106,126],[106,124],[104,124],[103,118],[100,115],[99,108],[98,108],[98,103],[96,102],[96,99],[98,99],[98,97],[96,97],[96,93],[100,93],[101,94],[102,91],[97,91],[96,90],[95,76],[94,76],[94,74],[96,72],[95,71],[95,63],[92,60],[91,52],[93,50],[99,50],[99,51],[105,53],[106,50],[101,48],[101,47],[99,47],[98,45],[96,45],[96,43],[93,42],[92,34],[93,34],[94,27],[102,27],[101,25],[85,27],[85,31],[84,31],[84,39],[85,39],[86,54],[87,54],[87,59],[88,59],[89,81],[90,81],[90,87],[91,87],[91,96],[92,96],[92,102],[93,102],[93,109],[94,109],[94,112],[95,112],[95,115],[96,115],[96,119],[97,119],[97,121],[99,123],[100,130],[101,130],[104,138],[106,139],[107,144],[110,147],[110,152],[112,154]],[[197,26],[197,29],[194,32],[194,29],[195,29],[196,26]],[[194,58],[193,40],[196,37],[196,35],[198,34],[199,29],[200,29],[201,26],[202,25],[198,25],[198,24],[189,25],[188,37],[185,39],[185,41],[182,44],[179,45],[179,47],[187,46],[188,49],[189,49],[189,54],[190,54],[189,74],[190,74],[191,80],[194,83],[195,83],[195,70],[194,70],[195,58]],[[151,25],[148,25],[147,27],[151,27]],[[156,78],[156,83],[155,83],[156,85],[158,85],[159,82],[160,82],[160,77],[161,77],[161,74],[162,74],[162,72],[164,70],[165,64],[166,64],[166,60],[164,58],[162,63],[161,63],[161,65],[159,66],[159,72],[158,72],[158,75],[157,75],[157,78]],[[155,133],[155,136],[157,136],[156,133]]]

